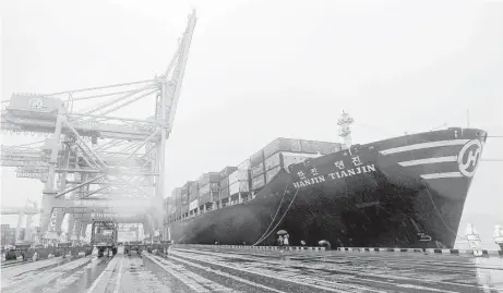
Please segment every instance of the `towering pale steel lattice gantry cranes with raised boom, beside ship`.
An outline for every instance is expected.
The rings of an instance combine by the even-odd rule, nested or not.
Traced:
[[[165,145],[195,22],[193,11],[168,69],[153,80],[12,95],[1,113],[2,130],[51,136],[39,147],[1,149],[2,166],[45,183],[43,233],[53,216],[60,227],[64,213],[71,215],[70,229],[76,230],[92,222],[96,212],[125,211],[144,215],[145,230],[161,229]],[[93,107],[86,107],[88,101]]]

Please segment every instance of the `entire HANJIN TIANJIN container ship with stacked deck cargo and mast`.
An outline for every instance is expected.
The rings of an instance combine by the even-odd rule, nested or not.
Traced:
[[[352,145],[277,138],[250,159],[175,188],[175,243],[452,248],[487,133],[451,127]]]

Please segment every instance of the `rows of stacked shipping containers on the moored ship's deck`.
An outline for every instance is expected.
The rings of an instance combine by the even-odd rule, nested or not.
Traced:
[[[337,152],[342,145],[292,138],[276,138],[238,167],[208,172],[175,188],[166,199],[167,221],[179,221],[208,210],[252,200],[276,174],[308,158]],[[171,206],[171,207],[170,207]]]

